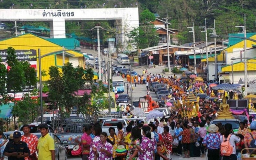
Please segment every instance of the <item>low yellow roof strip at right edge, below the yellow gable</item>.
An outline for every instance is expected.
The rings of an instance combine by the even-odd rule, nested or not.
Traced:
[[[231,72],[232,65],[226,65],[221,68],[222,72]],[[238,62],[233,64],[233,71],[244,71],[244,62]],[[256,71],[256,59],[250,59],[247,61],[247,71]]]

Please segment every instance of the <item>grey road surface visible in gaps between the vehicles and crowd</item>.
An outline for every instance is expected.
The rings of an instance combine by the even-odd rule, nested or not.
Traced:
[[[112,60],[112,62],[114,64],[117,64],[118,63],[115,61],[115,60]],[[141,75],[142,74],[142,71],[143,69],[147,69],[148,73],[150,74],[160,74],[161,76],[163,75],[162,73],[162,70],[166,68],[165,66],[156,66],[155,68],[151,68],[149,66],[137,66],[137,67],[134,67],[132,68],[133,71],[136,71],[137,74]],[[181,74],[176,74],[177,77],[181,76]],[[164,75],[164,76],[169,76],[169,75]],[[126,93],[126,85],[127,85],[127,80],[125,79],[125,87],[124,87],[124,93]],[[129,83],[129,86],[130,86],[130,83]],[[139,97],[143,97],[143,96],[146,96],[146,85],[143,84],[143,85],[139,85],[137,84],[137,86],[135,87],[135,85],[133,84],[134,86],[134,90],[133,90],[133,101],[138,101],[139,100]],[[129,90],[129,95],[131,95],[131,92]],[[156,100],[157,99],[157,95],[155,94],[155,92],[152,92],[150,91],[150,96]],[[207,160],[207,158],[201,158],[201,157],[191,157],[191,158],[183,158],[184,155],[181,155],[181,156],[176,156],[176,155],[172,155],[172,160],[179,160],[179,159],[186,159],[186,160],[192,160],[192,159],[197,159],[197,160]],[[68,156],[68,159],[69,160],[81,160],[81,157],[80,156]]]

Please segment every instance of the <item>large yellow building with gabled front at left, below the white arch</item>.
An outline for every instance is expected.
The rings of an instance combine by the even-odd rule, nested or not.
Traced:
[[[41,56],[51,53],[52,54],[41,58],[41,69],[42,71],[46,71],[46,76],[42,77],[42,81],[46,81],[50,78],[48,71],[50,66],[57,66],[62,68],[63,58],[62,58],[62,50],[63,47],[53,43],[47,39],[41,38],[34,34],[28,33],[24,35],[20,35],[14,38],[9,38],[0,41],[0,50],[6,50],[8,47],[13,47],[15,50],[35,50],[36,51],[36,66],[37,72],[39,75],[39,61],[38,61],[38,49],[41,50]],[[68,50],[68,49],[65,49]],[[83,54],[78,51],[65,51],[65,63],[70,62],[74,67],[82,66],[84,67],[84,58]]]

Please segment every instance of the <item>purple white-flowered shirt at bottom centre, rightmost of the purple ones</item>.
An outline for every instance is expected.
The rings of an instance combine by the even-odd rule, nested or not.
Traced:
[[[153,160],[155,144],[149,138],[143,136],[140,144],[142,152],[139,151],[140,160]]]

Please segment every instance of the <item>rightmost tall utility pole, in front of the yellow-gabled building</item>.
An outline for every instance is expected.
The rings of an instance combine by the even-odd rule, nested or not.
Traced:
[[[246,38],[246,15],[244,14],[244,26],[236,26],[242,28],[243,31],[239,32],[240,34],[244,33]],[[244,96],[247,96],[247,59],[246,59],[246,39],[244,40]]]

